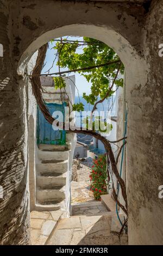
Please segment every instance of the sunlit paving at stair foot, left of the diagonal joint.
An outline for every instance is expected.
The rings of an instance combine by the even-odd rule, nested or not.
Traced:
[[[45,245],[61,215],[62,211],[60,210],[30,212],[30,236],[32,245]]]

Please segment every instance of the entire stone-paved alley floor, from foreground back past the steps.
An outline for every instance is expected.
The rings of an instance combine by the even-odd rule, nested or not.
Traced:
[[[115,211],[108,211],[93,198],[89,175],[90,168],[82,166],[78,181],[71,182],[70,218],[60,218],[60,211],[31,212],[33,245],[127,245],[127,236],[120,239],[111,232]]]

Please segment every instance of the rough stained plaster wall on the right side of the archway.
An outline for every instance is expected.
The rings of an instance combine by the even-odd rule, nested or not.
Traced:
[[[147,82],[135,86],[128,98],[129,243],[162,245],[163,199],[163,42],[162,1],[152,1],[142,26],[142,54],[148,64]]]

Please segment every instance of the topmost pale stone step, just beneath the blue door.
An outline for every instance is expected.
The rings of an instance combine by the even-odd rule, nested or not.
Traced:
[[[42,151],[38,149],[38,158],[40,160],[62,160],[65,161],[68,159],[68,151]]]

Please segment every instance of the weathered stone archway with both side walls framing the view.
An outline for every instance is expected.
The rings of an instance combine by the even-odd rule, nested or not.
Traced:
[[[11,155],[15,156],[17,161],[13,161],[20,176],[18,178],[18,173],[15,174],[15,167],[10,162],[7,167],[2,164],[5,171],[8,168],[10,178],[16,176],[17,181],[11,184],[11,194],[4,191],[6,207],[2,205],[4,218],[0,223],[2,243],[29,242],[26,83],[20,75],[23,75],[26,63],[37,48],[51,38],[73,33],[104,41],[114,48],[124,63],[128,102],[129,243],[161,244],[162,202],[157,192],[162,179],[162,165],[159,163],[162,156],[162,121],[160,123],[158,119],[158,114],[162,114],[162,89],[159,86],[162,83],[162,62],[153,50],[157,50],[157,44],[162,39],[159,30],[162,24],[161,1],[153,3],[150,12],[141,4],[116,2],[95,4],[78,1],[72,4],[69,1],[54,3],[49,0],[32,5],[21,2],[16,8],[12,7],[9,16],[9,10],[5,10],[5,26],[2,23],[6,33],[2,40],[5,53],[3,65],[8,65],[2,77],[9,75],[11,78],[5,88],[12,87],[12,90],[4,93],[4,99],[10,99],[12,112],[16,113],[10,120],[16,125],[13,135],[8,141],[4,140],[2,151],[3,161],[8,161]],[[155,26],[153,40],[151,27]],[[4,113],[5,107],[3,103],[1,109]],[[8,119],[5,118],[2,126],[5,127],[5,134],[10,131],[7,125]],[[16,149],[14,145],[17,145]],[[6,181],[5,176],[4,183]],[[14,206],[13,195],[16,199]]]

